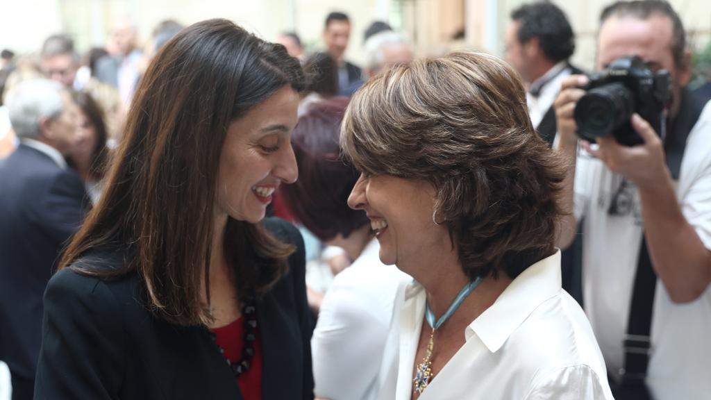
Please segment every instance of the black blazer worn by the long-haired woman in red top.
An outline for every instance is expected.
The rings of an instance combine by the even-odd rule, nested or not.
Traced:
[[[289,273],[257,301],[263,399],[313,399],[304,242],[285,221],[264,223],[297,251]],[[77,263],[120,268],[122,253]],[[35,399],[242,399],[208,330],[157,320],[138,292],[135,274],[100,280],[65,268],[50,280]]]

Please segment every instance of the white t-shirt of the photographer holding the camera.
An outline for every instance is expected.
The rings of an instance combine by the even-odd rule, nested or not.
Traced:
[[[584,216],[584,305],[615,378],[624,364],[632,284],[642,241],[641,205],[634,184],[581,151],[575,172],[575,216]],[[608,213],[617,196],[619,214]],[[711,249],[711,102],[689,133],[675,191],[681,211]],[[661,281],[654,300],[648,386],[657,400],[711,399],[711,289],[674,304]]]

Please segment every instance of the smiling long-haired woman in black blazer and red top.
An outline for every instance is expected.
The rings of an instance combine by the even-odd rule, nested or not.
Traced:
[[[44,298],[36,399],[312,399],[296,181],[299,61],[230,21],[149,65],[105,192]]]

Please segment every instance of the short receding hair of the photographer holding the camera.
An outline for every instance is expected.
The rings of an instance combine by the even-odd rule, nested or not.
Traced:
[[[672,23],[671,53],[674,58],[674,65],[678,68],[684,66],[684,53],[686,51],[686,33],[684,24],[679,18],[679,14],[672,8],[671,4],[664,0],[634,0],[617,1],[606,6],[600,14],[600,26],[611,16],[626,17],[631,16],[636,19],[646,20],[652,15],[665,16]]]

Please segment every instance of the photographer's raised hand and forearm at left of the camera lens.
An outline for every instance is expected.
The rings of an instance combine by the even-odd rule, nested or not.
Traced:
[[[581,86],[588,82],[585,75],[570,75],[563,79],[560,93],[553,108],[555,109],[555,121],[557,125],[557,139],[555,140],[555,150],[559,152],[567,161],[567,175],[563,186],[561,198],[561,208],[565,211],[560,220],[559,229],[556,235],[555,245],[560,248],[570,246],[577,232],[577,221],[573,213],[574,181],[575,181],[575,156],[577,154],[577,136],[575,131],[577,125],[573,117],[575,104],[579,98],[585,94]]]

